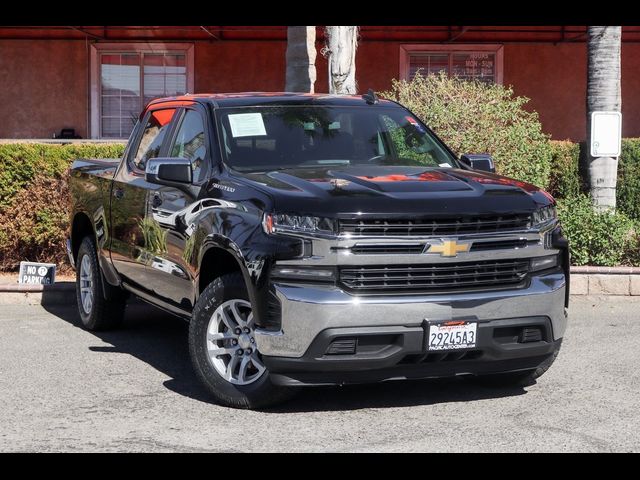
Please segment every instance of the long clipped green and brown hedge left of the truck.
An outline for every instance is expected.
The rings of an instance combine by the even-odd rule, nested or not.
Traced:
[[[0,144],[0,270],[21,260],[66,265],[69,166],[123,151],[123,144]]]

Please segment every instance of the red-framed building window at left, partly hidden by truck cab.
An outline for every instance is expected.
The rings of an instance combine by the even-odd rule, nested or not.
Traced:
[[[176,44],[94,45],[91,136],[127,138],[151,100],[193,91],[192,48]]]

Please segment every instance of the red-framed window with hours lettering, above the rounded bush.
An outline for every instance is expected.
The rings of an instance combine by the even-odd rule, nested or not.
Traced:
[[[412,79],[416,72],[444,72],[464,80],[502,83],[501,45],[402,45],[400,77]]]

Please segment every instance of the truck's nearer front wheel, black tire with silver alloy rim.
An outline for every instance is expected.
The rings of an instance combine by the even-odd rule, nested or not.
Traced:
[[[200,295],[189,325],[189,353],[199,380],[221,405],[263,408],[295,394],[293,388],[274,385],[261,363],[240,273],[215,279]]]

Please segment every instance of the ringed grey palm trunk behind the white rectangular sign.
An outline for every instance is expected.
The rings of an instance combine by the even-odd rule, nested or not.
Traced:
[[[619,112],[620,49],[622,27],[588,27],[587,141],[591,139],[591,113]],[[587,149],[589,150],[589,149]],[[589,188],[597,210],[615,210],[618,159],[585,155]]]

